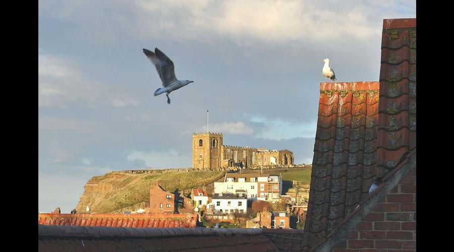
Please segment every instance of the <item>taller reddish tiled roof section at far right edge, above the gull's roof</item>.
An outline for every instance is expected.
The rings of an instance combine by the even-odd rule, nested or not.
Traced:
[[[416,149],[416,19],[385,19],[381,41],[377,176]]]

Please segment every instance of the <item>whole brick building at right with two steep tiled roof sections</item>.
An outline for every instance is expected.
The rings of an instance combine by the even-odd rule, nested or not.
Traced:
[[[416,19],[381,48],[379,82],[320,84],[303,251],[416,251]]]

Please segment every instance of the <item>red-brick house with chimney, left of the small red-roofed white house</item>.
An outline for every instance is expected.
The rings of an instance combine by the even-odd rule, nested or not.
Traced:
[[[161,182],[150,186],[150,214],[173,214],[175,212],[175,195],[166,192],[161,187]]]

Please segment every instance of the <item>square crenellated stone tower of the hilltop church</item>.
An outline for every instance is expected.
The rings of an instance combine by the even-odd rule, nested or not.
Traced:
[[[222,161],[222,133],[192,134],[192,168],[217,170]]]

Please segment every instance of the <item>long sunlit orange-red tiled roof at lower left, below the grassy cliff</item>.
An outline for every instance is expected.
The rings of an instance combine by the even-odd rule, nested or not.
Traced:
[[[38,224],[103,227],[195,227],[197,214],[38,214]]]

